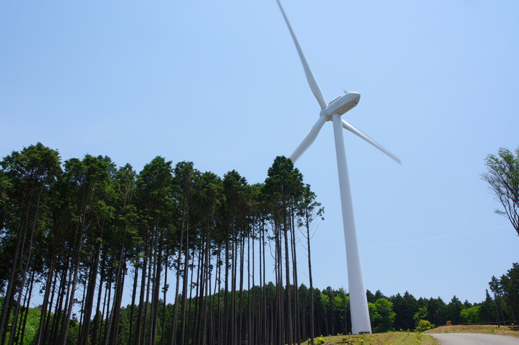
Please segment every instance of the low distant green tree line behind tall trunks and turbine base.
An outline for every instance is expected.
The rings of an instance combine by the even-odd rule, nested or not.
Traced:
[[[510,274],[517,274],[513,270],[517,270],[519,264],[514,264],[514,268],[505,274],[509,279]],[[494,281],[494,278],[493,278]],[[492,282],[490,282],[492,284]],[[291,286],[293,288],[293,286]],[[283,287],[284,290],[284,287]],[[310,292],[308,287],[304,284],[299,285],[297,288],[299,301],[301,305],[299,310],[302,311],[300,319],[300,335],[301,340],[307,340],[310,337],[309,320],[310,317]],[[242,291],[242,313],[238,314],[238,323],[245,325],[243,332],[243,342],[250,341],[251,343],[260,344],[263,343],[257,338],[261,338],[261,333],[267,333],[268,337],[274,335],[271,332],[271,325],[276,323],[276,286],[274,283],[269,282],[265,286],[254,286],[251,289],[244,289]],[[507,294],[512,293],[511,290],[506,292]],[[218,341],[218,333],[221,332],[221,325],[216,321],[218,318],[222,319],[223,301],[225,291],[214,293],[211,296],[202,297],[198,300],[198,297],[191,297],[187,299],[187,332],[190,335],[186,340],[187,343],[202,343],[200,340],[199,324],[197,323],[196,313],[200,306],[200,303],[208,303],[210,307],[208,311],[209,319],[212,320],[207,324],[207,334],[211,335],[208,341]],[[231,292],[227,292],[230,295]],[[266,310],[267,310],[267,322],[261,323],[258,321],[258,308],[261,305],[261,296],[266,295]],[[447,321],[451,321],[452,324],[463,324],[463,323],[485,323],[485,324],[512,324],[516,321],[513,319],[513,314],[516,312],[517,303],[509,303],[511,300],[515,300],[517,296],[505,295],[504,292],[494,299],[487,291],[486,299],[480,303],[470,303],[467,300],[461,302],[456,296],[445,303],[440,297],[438,298],[418,298],[416,299],[413,295],[405,292],[403,295],[397,294],[390,297],[385,296],[380,291],[371,293],[367,291],[368,306],[370,310],[370,316],[372,321],[372,327],[374,333],[392,332],[399,330],[415,329],[420,320],[427,320],[435,325],[445,325]],[[327,287],[320,291],[319,289],[313,289],[313,299],[315,300],[313,316],[315,318],[315,335],[336,335],[336,334],[347,334],[351,332],[351,320],[349,310],[349,297],[344,289],[339,288],[334,290],[331,287]],[[0,304],[2,298],[0,297]],[[238,302],[238,301],[237,301]],[[237,303],[238,304],[238,303]],[[147,303],[148,308],[149,302]],[[133,306],[133,309],[138,309],[139,306]],[[175,306],[172,303],[167,303],[165,306],[162,298],[159,299],[159,310],[165,308],[165,313],[158,314],[158,324],[165,325],[164,338],[157,337],[156,343],[170,343],[171,337],[169,336],[173,330],[173,319]],[[32,324],[31,329],[19,328],[17,332],[22,334],[29,334],[27,339],[29,342],[35,343],[35,335],[37,334],[37,320],[40,318],[40,313],[36,313],[41,310],[42,306],[38,309],[24,308],[24,322],[20,323],[20,327],[24,327],[25,323]],[[143,309],[146,309],[146,305]],[[138,322],[138,315],[132,314],[132,306],[127,305],[121,307],[119,314],[119,323],[117,328],[117,344],[130,345],[137,342],[135,333],[130,332],[131,325],[135,325]],[[27,318],[29,315],[29,319]],[[53,314],[49,315],[52,320]],[[89,334],[98,334],[98,338],[103,339],[106,332],[110,332],[110,316],[103,318],[102,312],[98,311],[94,315],[94,321],[98,321],[97,325],[100,331],[95,332],[94,322],[90,323]],[[249,318],[251,319],[249,321]],[[36,320],[37,319],[37,320]],[[51,321],[52,322],[52,321]],[[178,326],[179,324],[177,324]],[[78,342],[78,336],[80,331],[80,324],[73,320],[70,325],[67,343],[76,344]],[[31,326],[28,326],[31,327]],[[263,329],[266,328],[266,329]],[[220,335],[221,336],[221,335]],[[212,337],[212,338],[211,338]],[[199,339],[197,341],[197,339]],[[98,340],[99,342],[99,340]],[[297,342],[297,341],[296,341]],[[16,342],[15,342],[16,343]],[[20,343],[20,342],[18,342]]]

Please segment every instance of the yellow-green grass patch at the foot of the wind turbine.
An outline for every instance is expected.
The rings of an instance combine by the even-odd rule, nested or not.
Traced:
[[[360,336],[331,336],[323,337],[325,340],[324,345],[417,345],[418,340],[416,333],[407,332],[388,332],[388,333],[377,333],[377,334],[366,334]],[[343,339],[346,341],[353,341],[352,343],[343,343]],[[317,338],[314,339],[314,342]],[[422,335],[420,338],[420,345],[437,345],[438,341],[431,336]],[[304,342],[304,345],[309,345],[309,342]]]

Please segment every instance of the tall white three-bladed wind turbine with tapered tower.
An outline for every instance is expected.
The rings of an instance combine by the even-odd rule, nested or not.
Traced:
[[[351,328],[353,334],[371,333],[370,312],[367,308],[366,288],[364,286],[364,275],[362,273],[362,264],[360,259],[359,240],[357,238],[357,227],[355,225],[355,214],[353,213],[353,200],[351,198],[350,177],[348,173],[348,163],[346,161],[346,147],[344,144],[343,128],[350,132],[357,134],[368,143],[374,145],[380,150],[384,151],[391,158],[401,163],[400,160],[391,154],[384,147],[376,143],[373,139],[362,133],[356,127],[346,122],[341,118],[343,114],[354,108],[360,100],[360,93],[346,92],[342,96],[337,97],[330,103],[326,103],[323,93],[317,84],[316,78],[313,76],[312,70],[306,61],[305,54],[297,42],[294,31],[288,18],[286,18],[285,11],[277,0],[281,13],[289,27],[290,34],[294,40],[295,47],[299,53],[299,58],[305,70],[308,85],[316,97],[321,111],[319,119],[310,129],[308,134],[294,153],[290,156],[292,161],[296,161],[304,151],[313,143],[317,134],[327,121],[333,122],[333,133],[335,137],[335,153],[337,156],[337,172],[339,175],[339,192],[340,203],[343,212],[343,226],[344,239],[346,242],[346,261],[348,267],[348,289],[350,294],[350,308],[351,308]]]

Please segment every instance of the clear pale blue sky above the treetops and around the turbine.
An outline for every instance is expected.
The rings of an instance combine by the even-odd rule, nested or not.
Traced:
[[[283,4],[326,100],[360,92],[345,118],[403,162],[345,133],[366,287],[483,300],[519,261],[479,177],[519,145],[519,3]],[[2,157],[39,141],[256,183],[319,113],[274,0],[2,2],[0,47]],[[326,211],[315,285],[347,288],[331,123],[296,166]]]

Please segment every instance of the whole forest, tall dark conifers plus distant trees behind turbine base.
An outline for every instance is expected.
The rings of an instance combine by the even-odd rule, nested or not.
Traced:
[[[288,158],[257,184],[159,156],[139,173],[106,156],[62,162],[41,143],[0,166],[0,345],[301,344],[351,332],[347,291],[313,287],[324,208]],[[373,332],[516,320],[519,263],[489,288],[481,303],[367,291]]]

